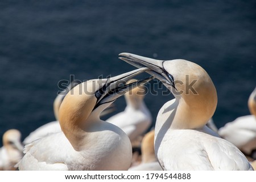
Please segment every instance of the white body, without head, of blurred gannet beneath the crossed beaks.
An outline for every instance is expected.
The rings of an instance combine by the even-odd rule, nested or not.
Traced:
[[[152,117],[150,111],[142,101],[138,108],[127,104],[125,111],[108,118],[106,121],[121,128],[130,140],[134,141],[134,139],[141,136],[148,129],[152,123]]]

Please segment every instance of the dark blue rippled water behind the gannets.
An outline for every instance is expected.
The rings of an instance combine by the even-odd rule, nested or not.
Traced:
[[[1,1],[0,136],[23,138],[54,120],[62,79],[117,75],[134,67],[130,52],[183,58],[208,71],[218,92],[218,127],[248,115],[256,86],[256,2],[251,1]],[[171,95],[145,98],[155,118]],[[120,98],[116,112],[125,107]],[[116,113],[115,112],[115,113]]]

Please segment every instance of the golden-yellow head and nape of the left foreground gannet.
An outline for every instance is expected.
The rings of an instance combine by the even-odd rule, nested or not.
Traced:
[[[94,92],[100,86],[98,80],[90,80],[75,86],[65,96],[59,110],[61,130],[68,138],[75,150],[79,146],[79,140],[84,138],[86,125],[90,124],[89,116],[96,104]],[[97,115],[96,115],[97,116]],[[98,113],[98,117],[100,113]]]

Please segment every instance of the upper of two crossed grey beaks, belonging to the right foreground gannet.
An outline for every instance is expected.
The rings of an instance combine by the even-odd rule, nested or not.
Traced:
[[[131,53],[121,53],[119,54],[121,60],[133,65],[135,67],[148,67],[150,70],[146,70],[148,74],[154,75],[155,78],[164,84],[170,85],[175,88],[174,78],[166,69],[164,69],[164,61],[154,60],[152,58],[138,56]]]

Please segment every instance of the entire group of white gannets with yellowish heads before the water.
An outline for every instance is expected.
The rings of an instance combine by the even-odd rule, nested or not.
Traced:
[[[57,121],[20,141],[19,130],[3,134],[0,170],[253,170],[256,168],[256,88],[250,116],[217,130],[209,124],[217,92],[207,72],[187,60],[154,60],[121,53],[138,69],[69,86],[54,102]],[[137,81],[146,72],[151,77]],[[157,78],[175,96],[160,108],[155,126],[143,101],[144,84]],[[188,85],[193,82],[193,87]],[[125,95],[125,111],[101,120],[106,108]],[[108,113],[108,112],[107,112]],[[214,125],[213,125],[214,126]],[[141,159],[132,164],[132,143]]]

